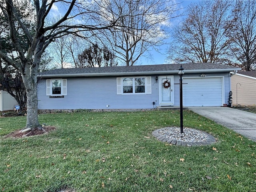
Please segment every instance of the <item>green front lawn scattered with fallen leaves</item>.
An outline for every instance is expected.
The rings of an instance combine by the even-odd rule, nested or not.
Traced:
[[[40,114],[56,130],[6,138],[26,117],[0,118],[0,191],[255,192],[256,143],[184,111],[184,126],[216,144],[182,147],[152,131],[179,126],[179,111]]]

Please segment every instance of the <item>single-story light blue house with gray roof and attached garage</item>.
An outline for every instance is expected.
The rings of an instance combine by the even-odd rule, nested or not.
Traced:
[[[228,103],[232,66],[182,64],[183,105]],[[148,109],[179,106],[180,64],[65,68],[41,73],[38,109]]]

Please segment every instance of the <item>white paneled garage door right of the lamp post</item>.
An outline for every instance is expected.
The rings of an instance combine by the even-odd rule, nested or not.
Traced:
[[[222,106],[222,78],[183,78],[184,106]]]

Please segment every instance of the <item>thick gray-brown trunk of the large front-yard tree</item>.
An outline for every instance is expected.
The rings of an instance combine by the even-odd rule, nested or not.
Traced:
[[[27,92],[27,124],[26,128],[42,130],[38,121],[37,103],[37,68],[38,64],[26,64],[22,80]]]

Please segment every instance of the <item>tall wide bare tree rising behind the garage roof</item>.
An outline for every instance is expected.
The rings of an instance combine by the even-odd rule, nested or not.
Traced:
[[[228,63],[228,0],[200,1],[187,9],[186,19],[174,27],[168,51],[171,62]]]

